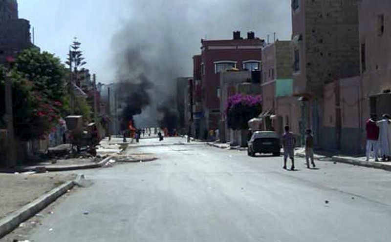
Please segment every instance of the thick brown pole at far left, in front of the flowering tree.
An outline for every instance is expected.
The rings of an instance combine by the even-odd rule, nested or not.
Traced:
[[[12,82],[9,76],[9,71],[5,75],[5,119],[7,122],[7,167],[16,166],[16,145],[14,135],[14,117],[12,112]]]

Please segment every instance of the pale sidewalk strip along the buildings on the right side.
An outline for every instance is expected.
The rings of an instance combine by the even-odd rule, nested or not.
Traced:
[[[220,148],[220,149],[239,149],[239,150],[246,150],[247,148],[239,147],[239,146],[230,146],[228,143],[218,143],[218,142],[208,142],[209,146]],[[386,171],[391,171],[391,161],[389,162],[382,162],[382,161],[366,161],[365,157],[352,157],[352,156],[345,156],[345,155],[332,155],[331,153],[321,154],[315,154],[314,158],[315,160],[319,161],[334,161],[339,163],[346,163],[346,164],[352,164],[352,165],[358,165],[358,166],[364,166],[369,168],[375,168],[375,169],[382,169]],[[304,148],[297,148],[295,150],[295,155],[297,157],[305,158],[305,150]]]

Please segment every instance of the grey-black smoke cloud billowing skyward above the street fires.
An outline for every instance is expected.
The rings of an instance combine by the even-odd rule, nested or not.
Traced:
[[[177,77],[193,76],[192,56],[200,53],[201,38],[230,39],[233,30],[253,30],[262,37],[277,31],[280,38],[290,38],[290,0],[124,2],[131,9],[130,19],[113,37],[113,62],[117,80],[135,84],[119,85],[126,92],[124,112],[130,111],[124,115],[141,110],[135,120],[143,126],[154,126],[174,113],[173,102],[165,108],[161,104],[174,100]],[[137,93],[149,98],[135,107],[127,97]]]

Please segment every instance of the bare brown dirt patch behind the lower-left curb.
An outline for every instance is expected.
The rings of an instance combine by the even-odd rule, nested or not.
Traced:
[[[75,178],[60,173],[0,174],[0,219]]]

